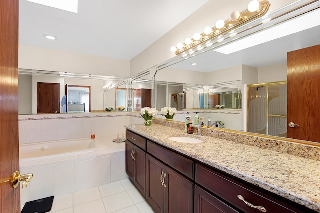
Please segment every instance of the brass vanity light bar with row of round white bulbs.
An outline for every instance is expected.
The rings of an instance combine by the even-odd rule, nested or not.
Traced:
[[[210,45],[204,45],[203,48],[209,47],[213,43],[221,42],[225,39],[221,37],[227,35],[230,31],[262,17],[267,12],[269,6],[270,4],[266,0],[262,0],[260,2],[253,0],[248,4],[248,8],[246,10],[242,12],[233,11],[230,18],[226,21],[222,19],[216,21],[215,27],[205,27],[203,33],[195,33],[192,39],[186,38],[184,43],[178,43],[176,47],[172,46],[170,50],[171,52],[175,52],[176,55],[180,55],[199,45],[209,44],[208,42],[210,42]],[[233,36],[234,35],[236,34],[233,34]],[[216,39],[217,37],[219,38]]]

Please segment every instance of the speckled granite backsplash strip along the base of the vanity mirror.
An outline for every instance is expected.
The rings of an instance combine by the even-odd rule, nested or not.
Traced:
[[[166,121],[164,119],[153,118],[152,123],[184,130],[183,122]],[[194,127],[197,133],[197,128]],[[202,128],[202,135],[215,138],[226,139],[246,145],[256,146],[263,149],[273,150],[277,152],[287,153],[294,156],[304,157],[312,160],[320,161],[320,146],[312,146],[300,144],[284,140],[276,140],[265,137],[259,137],[248,134],[226,131],[219,128]]]

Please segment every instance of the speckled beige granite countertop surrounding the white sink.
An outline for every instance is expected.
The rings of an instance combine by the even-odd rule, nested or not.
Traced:
[[[249,183],[320,212],[320,161],[262,149],[210,136],[152,124],[130,124],[127,129]],[[168,138],[188,136],[201,143]]]

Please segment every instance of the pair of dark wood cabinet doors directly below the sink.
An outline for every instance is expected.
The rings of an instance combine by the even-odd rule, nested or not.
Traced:
[[[146,199],[157,213],[193,213],[193,182],[146,155]]]

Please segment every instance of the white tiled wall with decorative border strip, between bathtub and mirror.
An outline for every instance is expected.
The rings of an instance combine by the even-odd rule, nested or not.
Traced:
[[[132,112],[19,115],[19,144],[125,133],[125,124],[142,123]]]

